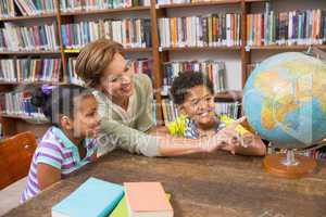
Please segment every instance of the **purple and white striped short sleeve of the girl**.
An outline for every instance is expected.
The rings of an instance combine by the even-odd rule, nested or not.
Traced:
[[[43,163],[61,169],[63,155],[59,144],[41,142],[37,148],[36,164]]]

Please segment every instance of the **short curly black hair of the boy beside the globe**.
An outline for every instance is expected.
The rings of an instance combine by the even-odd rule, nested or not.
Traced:
[[[173,102],[180,105],[185,102],[189,89],[196,86],[205,86],[212,93],[212,81],[202,72],[185,71],[174,78],[171,87]]]

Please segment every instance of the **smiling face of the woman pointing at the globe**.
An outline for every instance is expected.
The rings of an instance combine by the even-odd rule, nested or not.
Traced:
[[[133,62],[115,53],[101,76],[100,87],[111,98],[126,100],[134,93],[134,73]]]

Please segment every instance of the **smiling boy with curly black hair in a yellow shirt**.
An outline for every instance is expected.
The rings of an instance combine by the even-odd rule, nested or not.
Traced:
[[[180,73],[172,84],[171,93],[181,114],[167,126],[171,135],[188,139],[212,137],[234,122],[226,115],[215,114],[213,84],[203,73]],[[241,145],[233,151],[234,154],[265,155],[266,148],[258,136],[240,125],[235,130],[240,137]]]

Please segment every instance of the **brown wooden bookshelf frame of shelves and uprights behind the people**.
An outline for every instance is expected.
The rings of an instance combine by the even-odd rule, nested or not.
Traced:
[[[57,13],[53,14],[42,14],[42,15],[35,15],[35,16],[15,16],[15,17],[0,17],[0,26],[3,26],[4,22],[37,22],[39,20],[47,20],[47,18],[53,18],[57,22],[57,31],[58,34],[58,41],[59,41],[59,48],[60,51],[2,51],[0,52],[0,58],[20,58],[20,56],[60,56],[62,60],[62,73],[64,75],[67,75],[66,68],[67,68],[67,59],[70,56],[77,55],[79,53],[78,49],[64,49],[63,47],[63,40],[62,40],[62,34],[61,34],[61,25],[62,24],[68,24],[74,23],[75,21],[78,21],[82,18],[80,16],[90,15],[91,17],[96,17],[96,15],[106,15],[106,14],[114,14],[114,15],[122,15],[126,16],[133,13],[139,14],[139,12],[142,13],[149,13],[149,18],[151,20],[151,37],[152,37],[152,47],[151,48],[136,48],[136,49],[125,49],[125,52],[129,53],[149,53],[152,56],[153,65],[152,65],[152,73],[153,73],[153,80],[154,80],[154,89],[160,90],[163,82],[163,68],[162,63],[170,61],[170,54],[173,52],[216,52],[221,53],[224,51],[231,51],[231,52],[240,52],[240,61],[241,61],[241,86],[243,87],[248,77],[247,73],[247,65],[250,64],[251,61],[251,54],[254,51],[286,51],[286,50],[305,50],[309,48],[309,46],[260,46],[260,47],[250,47],[249,51],[247,51],[247,14],[251,13],[251,8],[253,3],[264,3],[267,0],[215,0],[210,2],[198,2],[198,3],[180,3],[180,4],[158,4],[156,0],[151,0],[150,7],[134,7],[134,8],[121,8],[121,9],[103,9],[103,10],[89,10],[89,11],[70,11],[70,12],[63,12],[60,10],[59,0],[54,0],[57,4]],[[160,17],[167,17],[168,16],[168,10],[177,9],[197,9],[201,7],[220,7],[220,5],[230,5],[230,7],[238,7],[239,5],[239,13],[241,14],[241,44],[238,47],[203,47],[203,48],[161,48],[160,41],[159,41],[159,31],[158,31],[158,18]],[[97,20],[100,18],[96,17]],[[326,44],[317,46],[318,48],[326,49]],[[42,85],[42,84],[51,84],[51,85],[64,85],[65,82],[5,82],[0,81],[0,89],[1,91],[8,91],[9,89],[12,89],[13,87],[16,87],[18,85]],[[241,95],[241,93],[235,94],[235,92],[224,92],[218,93],[215,97],[215,100],[240,100],[240,98],[235,95]],[[155,91],[155,100],[158,104],[161,104],[161,98],[164,98],[161,95],[161,91]],[[162,120],[162,111],[161,107],[158,107],[158,120]],[[15,122],[21,124],[21,120],[24,117],[12,117],[12,116],[2,116],[2,122],[4,119],[5,124],[4,127],[12,128],[11,133],[14,132],[14,130],[17,130],[17,127],[14,127],[12,125],[15,125]],[[162,123],[162,122],[161,122]],[[27,125],[26,125],[27,126]],[[25,127],[25,125],[24,125]],[[20,128],[21,129],[21,128]],[[5,135],[4,135],[5,136]]]

